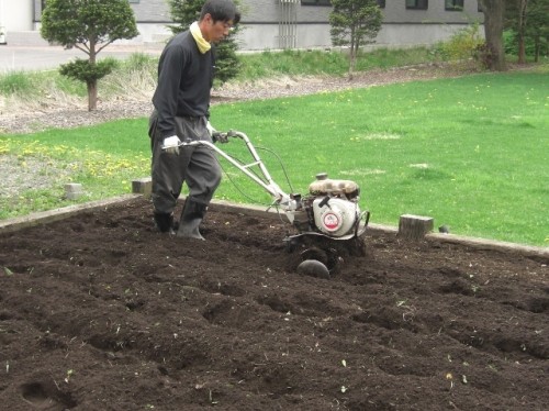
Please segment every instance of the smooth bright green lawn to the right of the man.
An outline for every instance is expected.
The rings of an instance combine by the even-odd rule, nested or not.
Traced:
[[[214,115],[281,154],[299,191],[318,171],[359,182],[373,222],[429,215],[453,233],[548,245],[547,81],[547,71],[477,75],[223,105]],[[236,196],[229,185],[219,195]]]

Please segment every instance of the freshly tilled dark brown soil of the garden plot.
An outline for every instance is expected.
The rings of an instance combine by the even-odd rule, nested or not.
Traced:
[[[267,216],[202,232],[139,198],[1,234],[0,408],[547,410],[548,259],[369,231],[326,280]]]

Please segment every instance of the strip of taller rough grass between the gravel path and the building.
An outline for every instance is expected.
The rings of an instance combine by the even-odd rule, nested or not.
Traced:
[[[344,76],[348,70],[348,57],[334,51],[284,51],[243,54],[242,70],[234,82],[255,81],[277,76],[325,75]],[[380,48],[362,53],[357,59],[357,70],[406,66],[439,60],[436,52],[427,47],[406,49]],[[115,70],[100,80],[103,98],[127,93],[128,89],[144,90],[156,82],[158,58],[144,53],[134,53],[120,62]],[[217,86],[217,85],[216,85]],[[0,96],[23,100],[41,99],[52,95],[87,96],[86,86],[59,75],[57,70],[8,71],[0,74]]]

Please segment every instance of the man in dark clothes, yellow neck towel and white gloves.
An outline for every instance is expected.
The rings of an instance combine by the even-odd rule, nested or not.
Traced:
[[[173,210],[183,182],[184,201],[177,235],[204,240],[199,225],[221,182],[215,154],[188,141],[212,142],[210,92],[214,76],[212,43],[228,35],[240,14],[231,0],[208,0],[200,19],[166,45],[158,63],[158,86],[149,119],[154,218],[161,233],[173,233]]]

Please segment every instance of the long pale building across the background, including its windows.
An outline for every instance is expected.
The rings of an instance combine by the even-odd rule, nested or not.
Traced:
[[[139,36],[131,43],[161,43],[171,23],[167,0],[128,0]],[[47,0],[0,0],[0,32],[12,45],[45,44],[40,22]],[[329,0],[240,0],[239,43],[245,51],[329,47]],[[482,22],[478,0],[379,0],[383,26],[377,45],[433,44]]]

